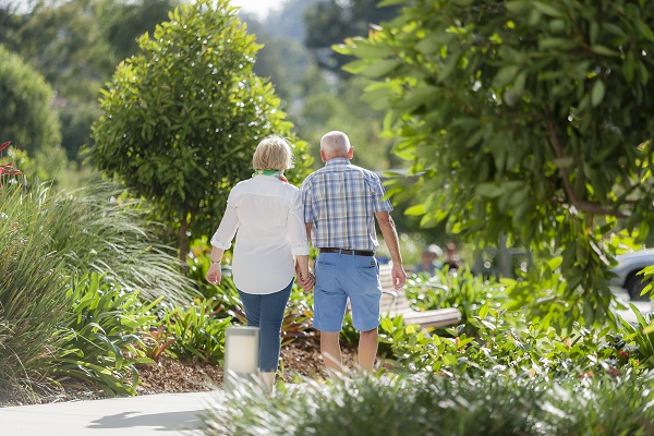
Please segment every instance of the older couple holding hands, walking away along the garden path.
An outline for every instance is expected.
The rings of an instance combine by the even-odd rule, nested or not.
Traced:
[[[279,136],[266,137],[254,153],[253,178],[232,189],[211,238],[207,280],[219,283],[222,254],[237,237],[233,280],[247,325],[261,329],[259,377],[268,386],[278,368],[281,323],[294,276],[305,291],[314,289],[313,327],[320,331],[320,352],[330,373],[342,371],[339,335],[348,298],[361,334],[359,366],[368,372],[374,367],[382,296],[375,219],[391,255],[396,289],[407,279],[392,206],[384,198],[379,178],[350,162],[353,155],[344,133],[325,134],[325,166],[298,189],[283,177],[292,166],[289,144]],[[315,276],[308,266],[310,240],[319,251]]]

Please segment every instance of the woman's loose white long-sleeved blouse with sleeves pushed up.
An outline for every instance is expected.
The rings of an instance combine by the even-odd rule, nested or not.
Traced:
[[[242,292],[281,291],[295,276],[294,255],[308,255],[300,190],[274,175],[237,183],[211,245],[228,250],[234,284]]]

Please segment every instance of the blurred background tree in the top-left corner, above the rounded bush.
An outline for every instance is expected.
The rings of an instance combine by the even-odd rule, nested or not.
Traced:
[[[99,32],[93,1],[37,1],[8,10],[7,47],[43,74],[56,92],[61,143],[70,159],[88,142],[96,94],[117,60]]]

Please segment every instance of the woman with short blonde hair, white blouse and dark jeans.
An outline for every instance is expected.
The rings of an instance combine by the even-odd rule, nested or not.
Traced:
[[[268,136],[256,147],[252,166],[255,170],[252,179],[239,182],[229,193],[227,210],[211,238],[207,280],[220,283],[222,254],[235,234],[234,284],[247,325],[259,327],[259,378],[271,387],[278,368],[283,313],[295,269],[306,290],[313,287],[313,277],[308,270],[300,190],[283,177],[283,171],[292,167],[291,147],[282,137]]]

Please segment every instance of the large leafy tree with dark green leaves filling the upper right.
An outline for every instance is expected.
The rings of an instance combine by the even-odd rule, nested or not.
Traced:
[[[516,284],[536,322],[601,323],[622,226],[654,242],[654,9],[644,1],[421,1],[337,51],[377,78],[368,99],[420,183],[422,223],[562,255],[565,283]],[[400,192],[399,189],[395,191]],[[606,253],[607,252],[607,253]],[[535,274],[535,272],[534,272]],[[536,276],[534,276],[536,277]],[[545,304],[547,303],[547,304]]]

